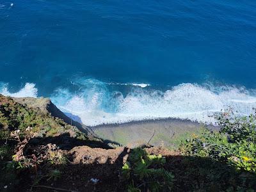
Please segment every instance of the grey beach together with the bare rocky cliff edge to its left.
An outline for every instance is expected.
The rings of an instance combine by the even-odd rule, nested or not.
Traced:
[[[52,116],[61,118],[67,124],[71,123],[60,109],[56,108],[49,99],[35,98],[13,98],[21,104],[30,108],[40,108],[44,113],[51,113]],[[86,132],[92,138],[100,138],[105,141],[113,141],[120,145],[138,147],[143,144],[152,146],[177,147],[177,142],[188,138],[189,135],[199,134],[202,127],[217,130],[214,125],[206,125],[200,122],[180,118],[155,118],[144,120],[133,120],[121,124],[102,124],[86,126],[79,122],[72,121],[79,130]]]

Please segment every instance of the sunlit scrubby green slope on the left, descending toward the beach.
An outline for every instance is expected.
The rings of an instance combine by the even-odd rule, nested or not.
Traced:
[[[14,132],[16,131],[16,132]],[[30,109],[15,102],[10,97],[0,95],[0,140],[12,138],[12,134],[19,134],[23,139],[28,132],[33,137],[53,137],[70,133],[74,138],[86,140],[86,135],[60,118],[54,118],[49,113],[42,113],[40,109]]]

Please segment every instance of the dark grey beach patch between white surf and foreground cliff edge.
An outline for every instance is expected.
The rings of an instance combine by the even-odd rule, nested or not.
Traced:
[[[175,148],[180,140],[188,138],[191,134],[199,134],[203,126],[212,131],[218,130],[218,127],[214,125],[179,118],[103,124],[90,127],[90,129],[102,140],[115,141],[129,147],[138,147],[148,143],[152,146]]]

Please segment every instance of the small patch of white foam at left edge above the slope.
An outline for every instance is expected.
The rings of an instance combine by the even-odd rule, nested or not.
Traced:
[[[2,95],[10,96],[10,97],[37,97],[37,88],[35,88],[34,83],[26,83],[23,88],[19,90],[19,92],[11,93],[8,90],[8,84],[0,85],[0,93]]]

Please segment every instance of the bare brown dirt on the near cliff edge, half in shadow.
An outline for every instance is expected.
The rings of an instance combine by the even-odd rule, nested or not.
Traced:
[[[163,156],[179,156],[178,152],[163,147],[146,148],[149,154]],[[33,188],[33,191],[125,191],[120,177],[123,163],[129,156],[130,148],[115,149],[90,148],[87,146],[74,147],[68,151],[70,164],[60,168],[61,179],[55,182],[44,182],[44,186]],[[99,179],[93,184],[91,179]]]

